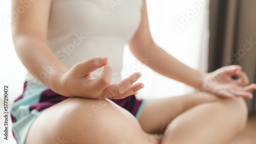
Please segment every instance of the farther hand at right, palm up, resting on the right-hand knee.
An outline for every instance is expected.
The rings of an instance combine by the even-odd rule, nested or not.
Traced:
[[[202,78],[199,89],[232,100],[236,97],[252,99],[251,92],[256,89],[256,84],[248,85],[249,79],[241,69],[239,65],[230,65],[208,73]],[[239,79],[232,79],[235,75]]]

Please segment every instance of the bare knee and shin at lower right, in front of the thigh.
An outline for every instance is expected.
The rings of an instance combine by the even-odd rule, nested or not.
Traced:
[[[203,103],[176,117],[166,128],[162,143],[227,142],[245,128],[246,121],[247,107],[242,98]]]

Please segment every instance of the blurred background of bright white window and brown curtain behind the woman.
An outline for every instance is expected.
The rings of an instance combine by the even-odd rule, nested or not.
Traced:
[[[155,42],[188,66],[202,71],[240,64],[256,82],[256,1],[254,0],[158,0],[147,1],[148,19]],[[22,93],[26,68],[16,56],[11,38],[11,1],[0,1],[0,89],[9,85],[9,103]],[[255,42],[254,42],[255,41]],[[253,43],[254,42],[254,43]],[[246,44],[247,43],[247,44]],[[139,98],[154,99],[195,91],[180,82],[167,79],[141,64],[124,47],[121,75],[140,71],[139,82],[145,88]],[[0,92],[3,95],[3,92]],[[255,95],[255,93],[254,93]],[[247,100],[249,113],[256,110],[255,98]],[[3,113],[3,97],[0,98]],[[10,109],[10,108],[9,108]],[[0,129],[3,130],[3,116]],[[11,119],[9,119],[11,122]],[[11,131],[11,129],[9,130]],[[0,134],[0,143],[3,141]],[[10,139],[7,143],[15,143]]]

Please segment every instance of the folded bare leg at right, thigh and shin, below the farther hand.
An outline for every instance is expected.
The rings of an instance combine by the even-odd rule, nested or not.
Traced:
[[[242,98],[221,99],[206,92],[147,100],[139,123],[161,143],[227,143],[243,130],[247,107]]]

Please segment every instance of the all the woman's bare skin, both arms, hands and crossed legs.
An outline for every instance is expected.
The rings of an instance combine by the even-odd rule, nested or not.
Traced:
[[[106,98],[122,99],[136,93],[144,87],[143,83],[133,85],[141,74],[110,84],[112,67],[108,57],[82,61],[69,69],[47,45],[51,2],[36,0],[12,21],[13,42],[18,57],[33,76],[70,98],[37,117],[26,144],[61,143],[60,140],[69,143],[225,143],[244,128],[247,110],[240,97],[252,98],[251,91],[256,85],[245,86],[248,78],[240,66],[204,74],[162,50],[152,40],[145,1],[141,25],[129,42],[132,53],[138,59],[144,55],[151,58],[145,64],[159,74],[213,94],[193,93],[148,100],[137,121],[131,113]],[[19,5],[19,1],[12,0],[13,9]],[[42,67],[51,66],[52,62],[58,67],[42,79]],[[93,79],[92,71],[103,66],[102,75]],[[232,80],[233,75],[240,79]],[[95,111],[94,106],[101,108]]]

